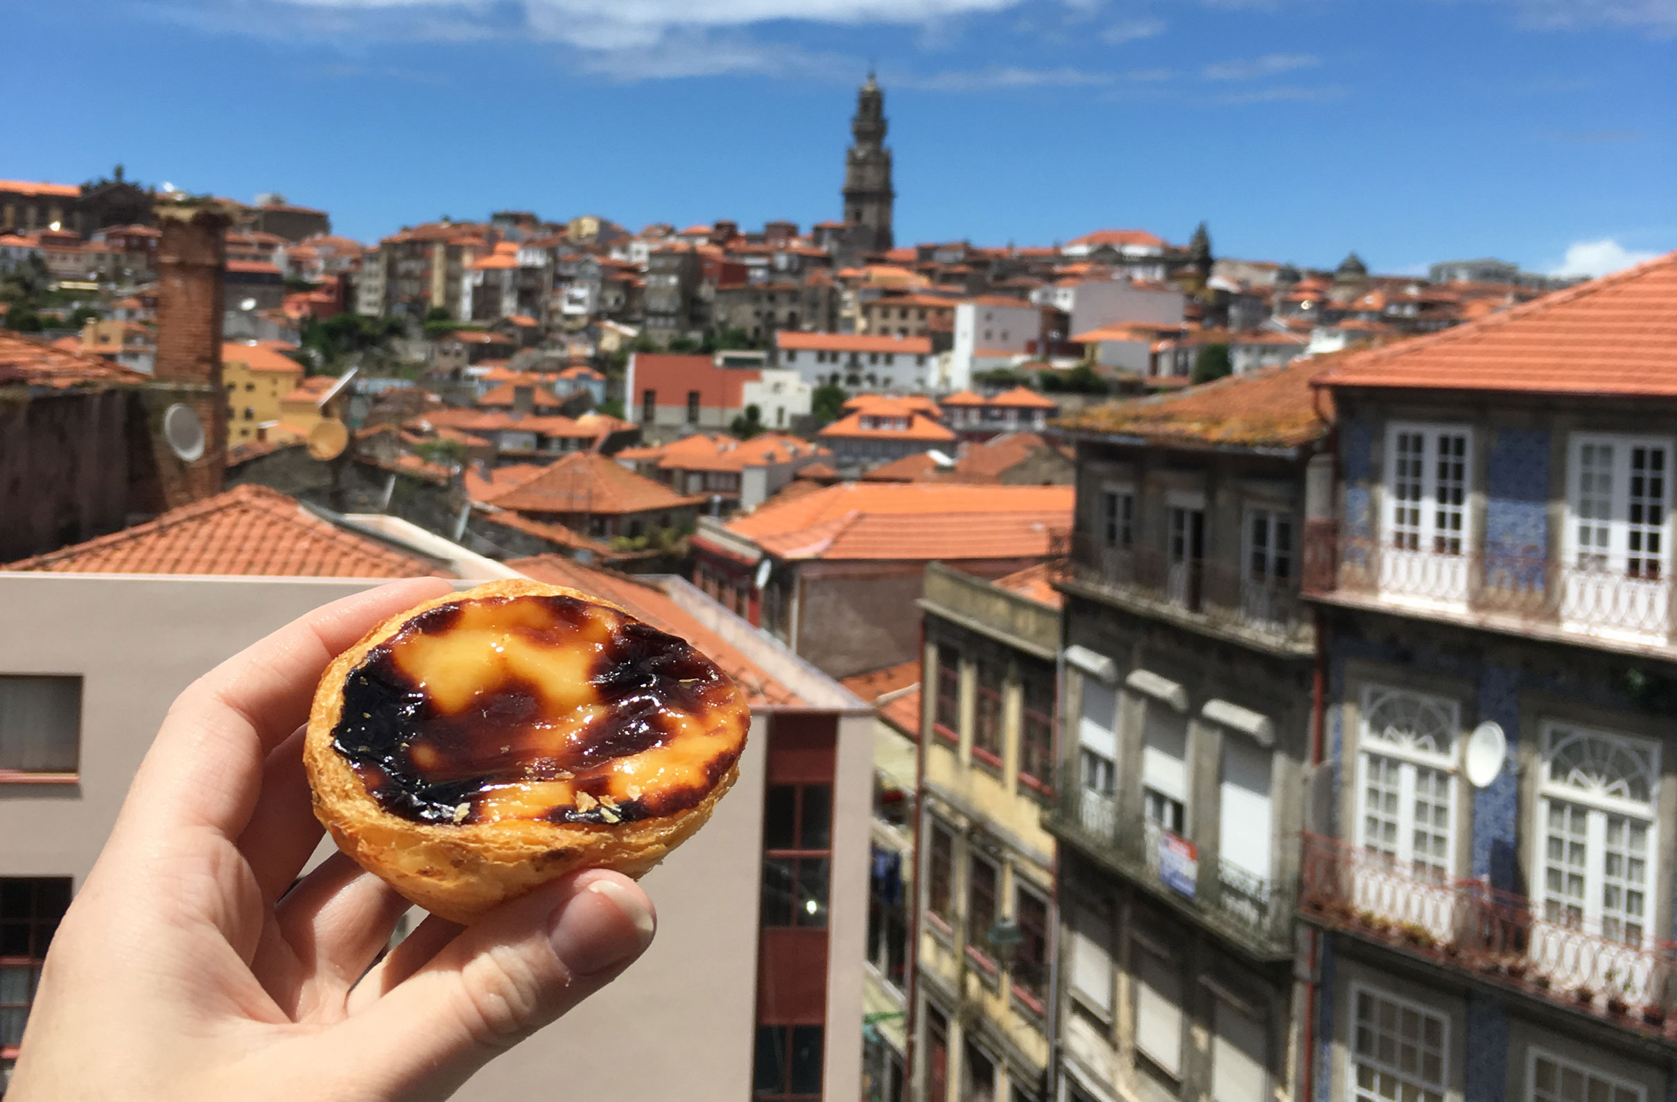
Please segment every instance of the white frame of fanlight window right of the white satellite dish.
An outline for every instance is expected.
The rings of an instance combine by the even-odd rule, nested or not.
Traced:
[[[1633,798],[1613,795],[1605,790],[1590,792],[1581,785],[1570,785],[1550,778],[1550,763],[1556,743],[1571,741],[1575,736],[1600,740],[1612,745],[1618,753],[1642,758],[1643,772],[1648,777],[1648,800],[1642,803]],[[1620,731],[1605,731],[1593,726],[1548,720],[1541,728],[1539,773],[1533,850],[1531,884],[1539,902],[1538,912],[1548,914],[1548,819],[1553,803],[1566,803],[1583,808],[1586,815],[1585,837],[1585,884],[1583,884],[1583,929],[1602,934],[1603,889],[1607,887],[1607,830],[1608,819],[1635,820],[1643,825],[1647,850],[1643,854],[1642,889],[1642,938],[1627,944],[1652,944],[1660,921],[1657,887],[1659,887],[1659,802],[1660,802],[1660,745],[1654,740],[1637,738]],[[1555,919],[1546,919],[1555,921]],[[1560,923],[1565,924],[1565,923]],[[1603,934],[1605,936],[1605,934]],[[1630,980],[1630,978],[1625,978]]]

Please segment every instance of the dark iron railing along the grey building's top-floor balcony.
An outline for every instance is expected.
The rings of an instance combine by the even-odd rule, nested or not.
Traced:
[[[1291,577],[1254,577],[1209,559],[1172,562],[1162,552],[1115,547],[1088,532],[1057,533],[1055,545],[1062,577],[1095,589],[1266,636],[1288,637],[1305,626]]]

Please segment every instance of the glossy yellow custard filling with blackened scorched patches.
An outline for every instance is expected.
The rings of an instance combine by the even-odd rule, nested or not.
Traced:
[[[745,715],[684,639],[575,597],[486,597],[372,647],[332,745],[414,822],[617,824],[699,803],[738,760]]]

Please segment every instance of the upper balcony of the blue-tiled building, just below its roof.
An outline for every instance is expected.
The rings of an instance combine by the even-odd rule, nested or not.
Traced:
[[[1670,652],[1672,582],[1647,564],[1558,562],[1499,550],[1442,554],[1305,532],[1303,590],[1337,604],[1404,609],[1526,636]]]

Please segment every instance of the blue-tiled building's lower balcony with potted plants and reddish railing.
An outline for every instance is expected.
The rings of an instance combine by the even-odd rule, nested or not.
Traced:
[[[1524,896],[1444,881],[1338,839],[1303,835],[1300,912],[1479,981],[1677,1042],[1674,946],[1545,919]]]

